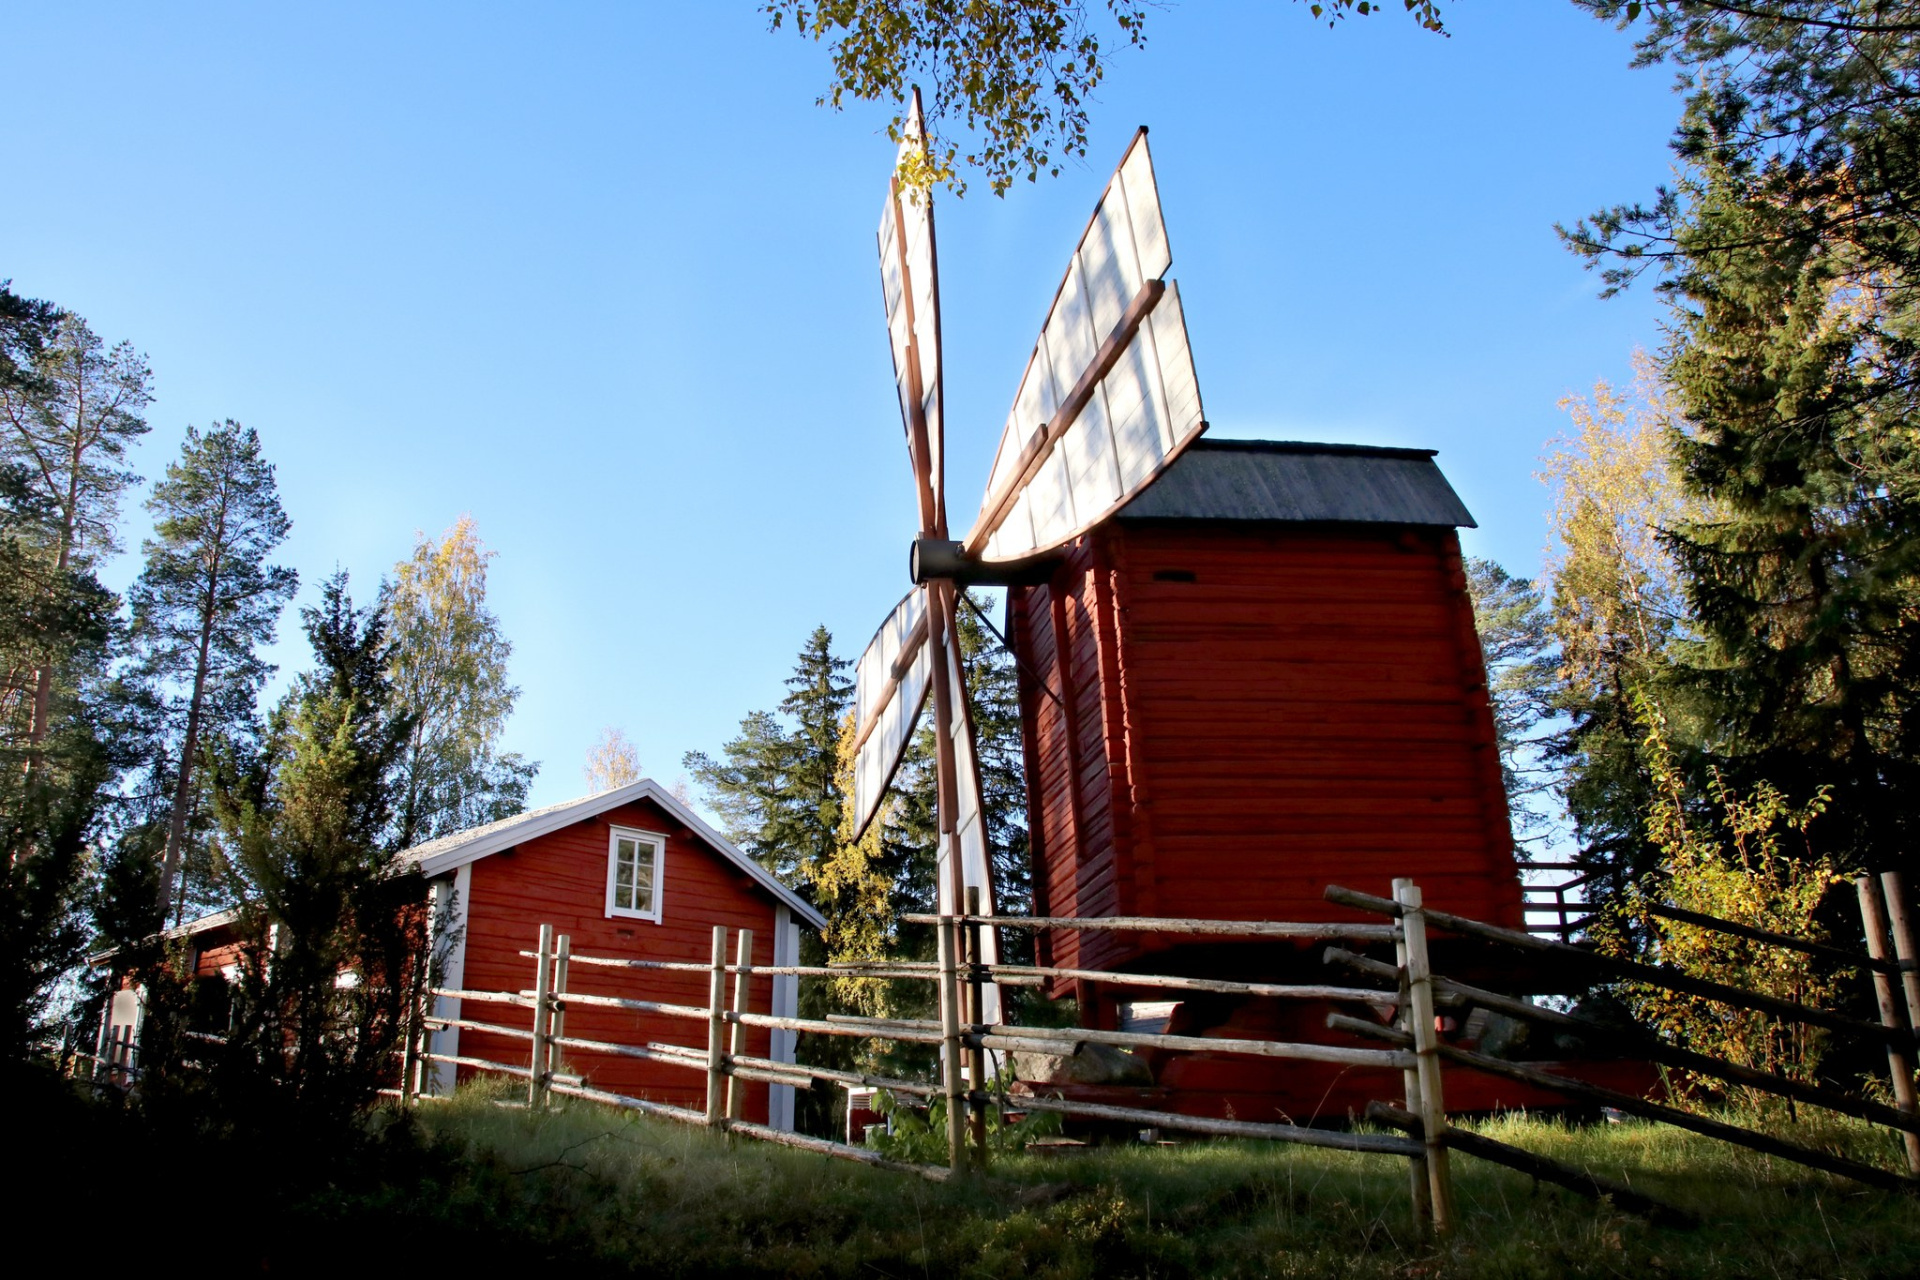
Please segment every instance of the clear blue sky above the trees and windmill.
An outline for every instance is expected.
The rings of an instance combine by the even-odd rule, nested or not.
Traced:
[[[943,200],[956,520],[1146,123],[1213,434],[1438,449],[1469,553],[1538,570],[1557,401],[1661,338],[1651,292],[1597,301],[1551,225],[1665,180],[1678,102],[1569,4],[1450,8],[1446,40],[1156,8],[1085,165]],[[826,50],[756,10],[6,17],[0,278],[150,355],[142,474],[190,422],[259,428],[301,599],[472,514],[536,802],[582,791],[605,725],[674,779],[780,699],[814,624],[852,656],[908,585],[874,261],[891,111],[816,107]],[[305,662],[292,614],[275,656]]]

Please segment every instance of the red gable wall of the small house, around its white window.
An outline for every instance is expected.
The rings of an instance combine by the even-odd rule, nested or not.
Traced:
[[[607,841],[609,827],[637,827],[666,835],[666,867],[660,887],[662,923],[607,915]],[[766,890],[747,879],[737,867],[714,854],[699,837],[676,823],[653,804],[626,804],[597,818],[574,823],[526,844],[511,854],[482,858],[472,869],[472,890],[467,910],[467,973],[468,990],[526,990],[534,986],[534,961],[520,956],[534,950],[540,925],[572,935],[574,954],[612,956],[622,960],[676,960],[707,963],[712,958],[712,927],[753,929],[755,963],[774,963],[774,902]],[[728,942],[728,960],[735,944]],[[599,965],[574,965],[568,986],[593,996],[624,1000],[657,1000],[664,1004],[707,1004],[707,975],[622,971]],[[733,979],[728,979],[728,992]],[[756,1013],[772,1011],[772,979],[751,984],[751,1006]],[[463,1017],[499,1023],[503,1027],[532,1027],[532,1011],[524,1007],[468,1002]],[[566,1011],[566,1034],[580,1040],[611,1044],[684,1044],[707,1050],[707,1025],[691,1019],[574,1006]],[[766,1057],[770,1032],[751,1029],[747,1052]],[[463,1031],[461,1055],[526,1065],[524,1038]],[[707,1105],[707,1080],[699,1071],[670,1067],[659,1061],[586,1054],[568,1050],[566,1069],[588,1077],[593,1088],[649,1098],[680,1107]],[[461,1069],[461,1079],[470,1079]],[[747,1119],[766,1121],[766,1084],[747,1084]]]

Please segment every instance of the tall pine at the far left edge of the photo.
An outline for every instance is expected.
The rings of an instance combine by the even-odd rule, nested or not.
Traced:
[[[108,681],[119,601],[94,566],[117,549],[146,403],[131,347],[0,282],[0,1061],[58,1038],[129,764]]]

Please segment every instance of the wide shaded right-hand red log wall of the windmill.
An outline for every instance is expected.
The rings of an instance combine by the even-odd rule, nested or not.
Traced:
[[[1127,712],[1152,762],[1167,915],[1344,917],[1321,900],[1329,881],[1411,875],[1432,906],[1519,923],[1450,530],[1117,537]]]

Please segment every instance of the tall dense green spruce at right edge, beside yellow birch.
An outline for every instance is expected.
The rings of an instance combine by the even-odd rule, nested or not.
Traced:
[[[1688,683],[1736,777],[1797,804],[1832,785],[1826,850],[1905,864],[1920,835],[1920,365],[1893,336],[1907,320],[1889,307],[1907,303],[1862,292],[1845,244],[1774,238],[1776,198],[1709,163],[1680,236],[1693,255],[1667,372],[1693,430],[1672,445],[1716,507],[1668,539],[1707,639]]]

